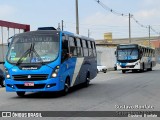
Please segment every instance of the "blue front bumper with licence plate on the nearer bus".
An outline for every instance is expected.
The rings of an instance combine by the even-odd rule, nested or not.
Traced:
[[[51,92],[64,89],[64,81],[60,80],[59,77],[40,81],[15,81],[5,79],[5,83],[7,92]]]

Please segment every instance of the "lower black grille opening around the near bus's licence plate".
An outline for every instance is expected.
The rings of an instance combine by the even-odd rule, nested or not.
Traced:
[[[35,84],[34,86],[24,86],[17,84],[16,87],[18,89],[43,89],[45,87],[45,84]]]

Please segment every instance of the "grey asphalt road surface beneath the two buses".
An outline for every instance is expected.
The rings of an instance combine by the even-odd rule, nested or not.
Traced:
[[[28,93],[21,98],[0,88],[0,111],[117,111],[126,106],[160,110],[160,66],[143,73],[109,71],[99,73],[87,88],[76,87],[67,96],[56,93]],[[15,118],[17,119],[17,118]],[[53,120],[53,118],[50,118]],[[81,118],[54,118],[76,119]],[[105,120],[106,118],[83,118]],[[118,119],[118,118],[110,118]],[[134,119],[134,118],[132,118]],[[136,118],[135,118],[136,119]]]

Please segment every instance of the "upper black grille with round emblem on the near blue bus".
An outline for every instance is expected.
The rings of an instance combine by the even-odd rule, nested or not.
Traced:
[[[13,75],[12,77],[16,81],[38,81],[46,80],[48,78],[48,74]]]

